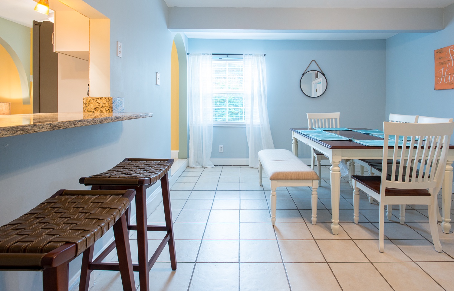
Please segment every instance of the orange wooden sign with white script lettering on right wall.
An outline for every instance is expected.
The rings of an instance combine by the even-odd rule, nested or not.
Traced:
[[[454,89],[454,45],[435,50],[435,90]]]

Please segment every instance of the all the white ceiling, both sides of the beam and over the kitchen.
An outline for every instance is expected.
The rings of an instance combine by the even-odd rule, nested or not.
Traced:
[[[446,7],[454,0],[164,0],[169,7],[282,7],[282,8],[426,8]],[[58,2],[58,1],[56,1]],[[31,27],[47,20],[36,12],[34,0],[0,0],[0,17]],[[387,39],[394,33],[186,32],[197,39]]]

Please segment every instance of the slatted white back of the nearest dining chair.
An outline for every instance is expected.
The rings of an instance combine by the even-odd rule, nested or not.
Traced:
[[[454,122],[384,122],[383,130],[385,141],[389,136],[395,136],[395,140],[392,165],[388,164],[388,144],[383,147],[381,194],[385,187],[430,191],[441,186]],[[404,141],[411,146],[405,146]]]

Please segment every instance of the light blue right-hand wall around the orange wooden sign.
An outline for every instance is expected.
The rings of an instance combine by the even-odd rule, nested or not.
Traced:
[[[386,40],[386,116],[454,117],[454,90],[434,90],[434,50],[454,44],[453,17],[454,5],[449,5],[444,30]]]

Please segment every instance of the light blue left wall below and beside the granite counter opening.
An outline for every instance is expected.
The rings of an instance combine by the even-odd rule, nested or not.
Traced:
[[[111,19],[111,96],[124,97],[126,112],[153,112],[153,117],[0,138],[0,225],[59,189],[84,189],[80,177],[108,170],[124,158],[170,157],[174,34],[167,29],[167,5],[163,0],[85,2]],[[123,58],[115,54],[117,41],[123,44]],[[80,258],[71,262],[69,277],[79,268]],[[0,272],[1,291],[39,291],[41,282],[40,272]]]

